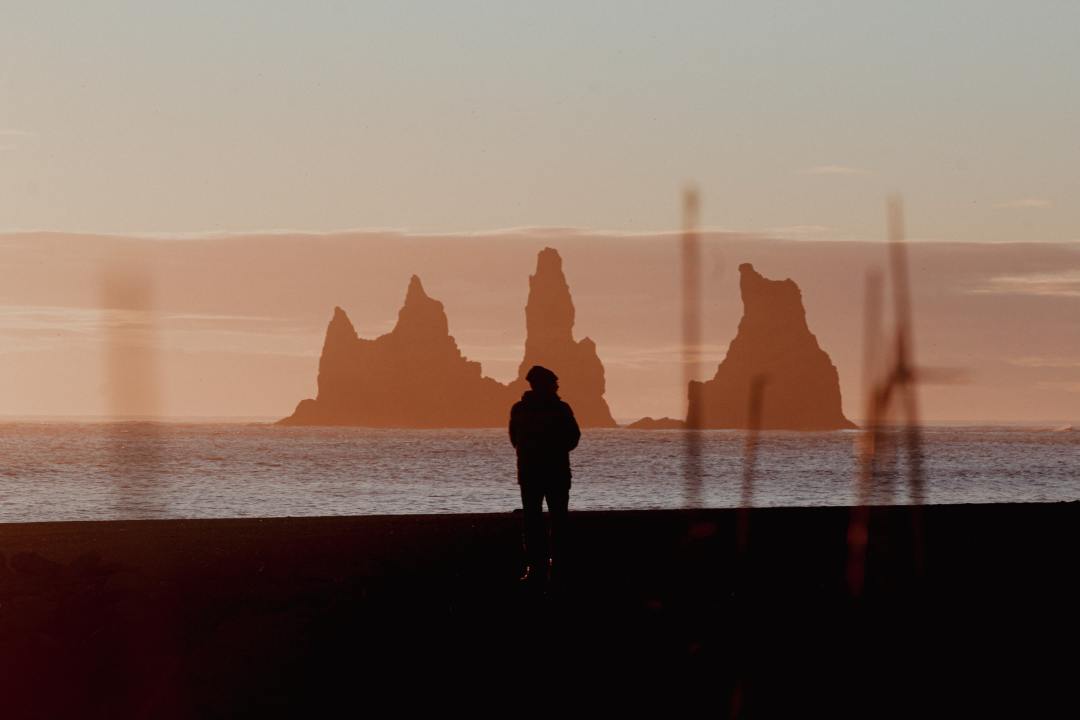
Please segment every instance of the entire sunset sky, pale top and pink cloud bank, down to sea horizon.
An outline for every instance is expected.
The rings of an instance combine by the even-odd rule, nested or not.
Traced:
[[[677,415],[693,184],[715,362],[758,258],[860,417],[902,192],[921,357],[975,370],[928,417],[1075,420],[1077,27],[1053,0],[0,0],[0,415],[107,412],[110,338],[156,353],[164,415],[287,415],[333,305],[378,335],[413,272],[505,380],[544,245],[616,417]],[[151,334],[100,310],[118,263],[152,283]]]

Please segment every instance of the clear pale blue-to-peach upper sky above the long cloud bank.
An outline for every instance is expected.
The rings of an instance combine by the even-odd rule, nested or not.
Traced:
[[[1076,2],[0,9],[0,230],[1080,239]]]

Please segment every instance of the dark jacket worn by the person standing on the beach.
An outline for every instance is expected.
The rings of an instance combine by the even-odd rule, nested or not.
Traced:
[[[517,449],[518,484],[570,484],[570,450],[581,430],[570,406],[554,393],[532,390],[510,410],[510,443]]]

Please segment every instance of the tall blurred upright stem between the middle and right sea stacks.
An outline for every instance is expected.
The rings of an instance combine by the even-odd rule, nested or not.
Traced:
[[[683,386],[687,392],[686,453],[683,473],[686,485],[686,504],[700,507],[702,502],[701,427],[702,404],[690,402],[690,393],[698,385],[701,353],[701,240],[698,235],[700,203],[698,189],[689,187],[683,192]]]

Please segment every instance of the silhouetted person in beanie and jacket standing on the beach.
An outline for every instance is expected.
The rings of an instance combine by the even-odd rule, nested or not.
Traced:
[[[542,582],[548,568],[561,568],[570,501],[570,450],[581,430],[573,410],[558,397],[558,378],[534,365],[525,376],[531,390],[510,410],[510,441],[517,450],[517,484],[525,511],[523,535],[528,563],[522,580]],[[551,542],[543,501],[551,514]]]

